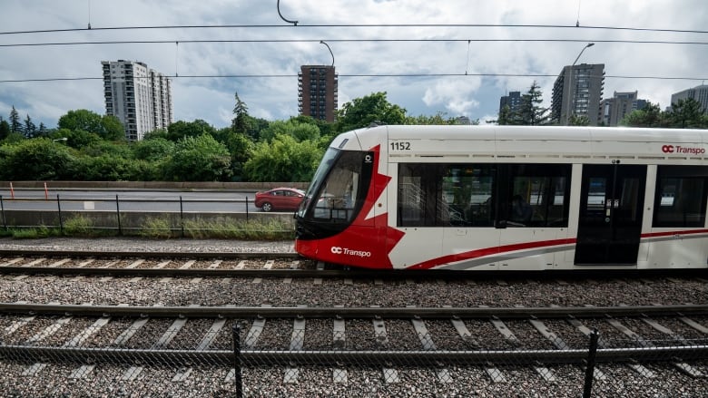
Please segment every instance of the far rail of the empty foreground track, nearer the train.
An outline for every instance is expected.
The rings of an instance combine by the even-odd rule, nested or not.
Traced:
[[[425,319],[491,318],[588,318],[708,315],[708,305],[675,306],[571,306],[571,307],[299,307],[299,306],[84,306],[0,303],[0,314],[149,316],[186,318],[390,318]]]

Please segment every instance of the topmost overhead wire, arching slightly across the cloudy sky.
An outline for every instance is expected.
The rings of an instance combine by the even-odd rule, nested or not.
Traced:
[[[575,24],[192,24],[192,25],[144,25],[144,26],[105,26],[89,28],[67,28],[67,29],[35,29],[26,31],[0,32],[2,34],[49,34],[63,32],[97,32],[97,31],[122,31],[122,30],[142,30],[142,29],[270,29],[270,28],[532,28],[532,29],[587,29],[587,30],[614,30],[614,31],[634,31],[634,32],[654,32],[654,33],[677,33],[677,34],[708,34],[708,31],[693,29],[670,29],[670,28],[644,28],[632,26],[602,26],[588,25],[576,26]]]

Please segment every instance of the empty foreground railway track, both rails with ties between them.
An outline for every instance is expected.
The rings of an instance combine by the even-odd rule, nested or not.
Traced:
[[[585,368],[597,344],[595,379],[624,366],[651,383],[657,372],[701,385],[708,374],[708,306],[546,308],[202,307],[0,305],[4,361],[25,376],[65,366],[69,380],[121,368],[123,382],[174,369],[172,380],[201,377],[199,367],[236,379],[234,364],[280,369],[271,384],[299,383],[303,367],[329,369],[319,383],[379,372],[386,385],[409,368],[429,369],[437,383],[457,383],[450,370],[481,372],[488,383],[529,369],[554,385],[566,366]],[[368,332],[366,331],[368,329]],[[595,330],[595,332],[594,332]],[[485,331],[485,332],[481,332]],[[496,331],[488,333],[489,331]],[[612,332],[614,331],[614,332]],[[235,340],[234,340],[235,339]],[[240,349],[235,350],[235,346]],[[614,372],[614,371],[613,371]],[[300,380],[301,381],[301,380]],[[245,379],[249,383],[249,379]],[[261,386],[263,387],[263,386]],[[258,387],[258,388],[261,388]],[[270,386],[272,387],[272,385]],[[263,387],[265,388],[265,387]],[[267,388],[266,388],[267,390]]]

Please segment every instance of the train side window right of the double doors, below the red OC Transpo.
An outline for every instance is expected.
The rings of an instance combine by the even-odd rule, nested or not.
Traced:
[[[653,227],[705,225],[708,168],[659,166]]]

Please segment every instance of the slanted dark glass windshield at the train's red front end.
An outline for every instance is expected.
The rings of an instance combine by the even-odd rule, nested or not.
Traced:
[[[371,152],[329,148],[300,204],[298,217],[349,224],[366,198],[372,159]]]

